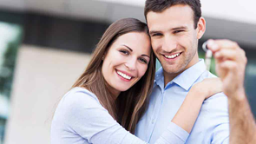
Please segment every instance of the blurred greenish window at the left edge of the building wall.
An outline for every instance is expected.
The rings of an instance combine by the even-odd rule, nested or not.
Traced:
[[[0,22],[0,144],[10,110],[10,90],[16,62],[16,52],[21,41],[21,27]]]

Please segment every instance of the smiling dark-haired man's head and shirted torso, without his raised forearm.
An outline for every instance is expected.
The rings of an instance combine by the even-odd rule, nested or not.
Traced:
[[[214,75],[206,70],[197,52],[198,41],[206,30],[200,0],[147,0],[144,12],[152,48],[162,68],[156,72],[148,110],[135,134],[154,143],[171,123],[194,83]],[[213,95],[203,102],[189,136],[176,126],[177,137],[189,144],[228,143],[227,108],[226,95]]]

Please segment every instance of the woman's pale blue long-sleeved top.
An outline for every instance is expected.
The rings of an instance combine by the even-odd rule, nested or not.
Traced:
[[[188,134],[168,123],[155,144],[184,144]],[[122,128],[96,95],[85,88],[72,88],[62,97],[51,124],[52,144],[145,144]],[[181,135],[181,137],[179,136]]]

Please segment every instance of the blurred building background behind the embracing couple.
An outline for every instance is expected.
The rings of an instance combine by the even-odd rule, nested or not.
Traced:
[[[104,30],[125,17],[145,22],[144,3],[0,0],[0,144],[49,143],[56,104],[86,68]],[[200,57],[209,38],[231,39],[246,50],[246,94],[256,115],[256,2],[201,3],[207,31]]]

